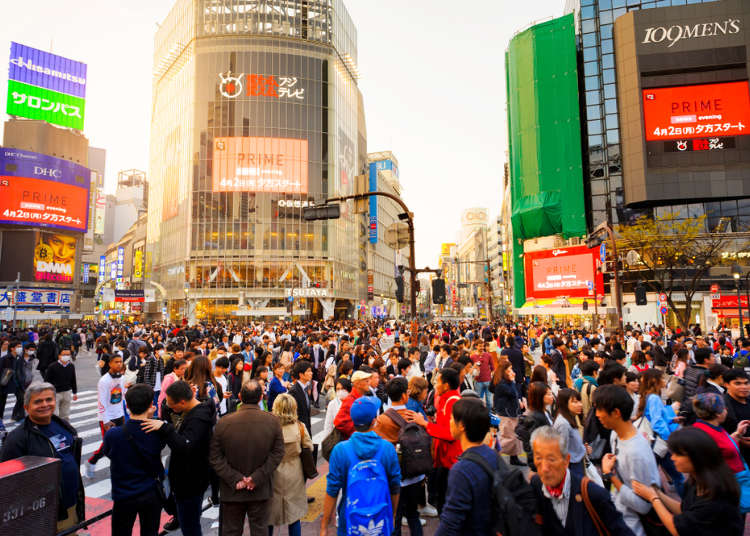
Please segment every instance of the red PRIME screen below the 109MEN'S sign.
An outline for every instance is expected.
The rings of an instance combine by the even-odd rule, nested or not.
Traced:
[[[750,129],[747,82],[643,90],[646,140],[737,136]]]

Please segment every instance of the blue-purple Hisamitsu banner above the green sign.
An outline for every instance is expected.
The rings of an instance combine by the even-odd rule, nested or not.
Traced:
[[[86,97],[86,64],[20,43],[10,44],[8,79],[58,93]]]

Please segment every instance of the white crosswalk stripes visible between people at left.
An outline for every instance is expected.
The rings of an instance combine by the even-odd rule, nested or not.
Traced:
[[[5,406],[3,421],[8,431],[18,426],[11,420],[15,396],[8,396]],[[320,443],[324,438],[323,425],[325,422],[325,410],[321,410],[317,415],[311,417],[313,431],[313,443]],[[78,393],[78,400],[71,403],[70,423],[83,439],[82,462],[87,460],[102,443],[101,429],[99,428],[99,419],[97,417],[97,392],[96,390],[86,390]],[[169,449],[164,450],[162,462],[166,462]],[[83,465],[83,463],[82,463]],[[109,478],[110,461],[108,458],[102,458],[96,464],[94,478],[83,477],[83,484],[87,497],[99,499],[112,499],[112,483]],[[83,467],[81,467],[83,474]],[[206,494],[208,496],[208,493]],[[206,510],[203,515],[204,529],[218,527],[219,508],[213,507]]]

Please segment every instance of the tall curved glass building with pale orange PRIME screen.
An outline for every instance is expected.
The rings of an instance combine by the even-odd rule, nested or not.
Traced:
[[[356,61],[342,0],[177,0],[155,40],[146,274],[172,320],[364,297],[364,216],[302,219],[366,165]]]

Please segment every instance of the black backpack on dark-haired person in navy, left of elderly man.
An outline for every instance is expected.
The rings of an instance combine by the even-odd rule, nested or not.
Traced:
[[[493,469],[477,452],[464,452],[459,460],[474,462],[490,477],[492,534],[497,536],[539,536],[541,534],[536,496],[520,469],[508,466],[499,454],[497,469]]]

